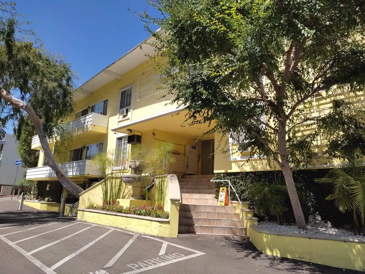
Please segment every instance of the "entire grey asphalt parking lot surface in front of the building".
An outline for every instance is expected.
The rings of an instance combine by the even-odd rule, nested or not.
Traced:
[[[152,237],[0,202],[0,273],[360,273],[268,256],[251,243]]]

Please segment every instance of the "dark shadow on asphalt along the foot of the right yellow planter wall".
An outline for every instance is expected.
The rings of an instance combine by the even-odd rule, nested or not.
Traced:
[[[252,260],[264,260],[267,262],[267,267],[274,269],[282,269],[291,271],[293,273],[309,273],[309,274],[334,274],[334,273],[351,273],[361,274],[364,272],[340,269],[331,266],[318,265],[316,263],[304,262],[301,260],[281,258],[277,256],[271,256],[258,251],[256,247],[250,241],[225,241],[222,246],[234,248],[237,252],[242,252],[242,257],[237,258],[248,258]]]

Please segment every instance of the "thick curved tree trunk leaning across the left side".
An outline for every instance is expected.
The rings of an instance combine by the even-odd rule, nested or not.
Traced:
[[[62,170],[62,168],[57,164],[53,157],[53,153],[49,147],[48,140],[43,132],[43,124],[41,122],[41,119],[39,119],[37,113],[32,109],[31,106],[29,106],[27,103],[19,100],[18,98],[15,98],[10,93],[5,91],[3,88],[0,88],[0,96],[9,104],[16,107],[17,109],[22,109],[26,111],[29,118],[31,119],[32,123],[35,126],[35,129],[37,130],[37,134],[39,136],[39,141],[41,142],[43,152],[45,154],[47,164],[54,173],[57,176],[57,179],[62,184],[62,186],[65,187],[66,190],[68,190],[69,193],[71,193],[74,197],[79,198],[80,193],[84,191],[81,187],[79,187],[77,184],[73,183],[67,176],[65,175],[65,172]]]

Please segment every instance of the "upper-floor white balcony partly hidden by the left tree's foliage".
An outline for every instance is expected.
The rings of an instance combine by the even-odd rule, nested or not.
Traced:
[[[109,117],[97,113],[90,113],[69,122],[66,128],[74,136],[82,134],[82,137],[92,137],[108,132]],[[38,135],[32,138],[32,149],[42,149]]]

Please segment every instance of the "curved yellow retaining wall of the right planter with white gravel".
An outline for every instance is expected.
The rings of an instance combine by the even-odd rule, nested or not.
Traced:
[[[365,271],[365,240],[320,235],[296,235],[250,225],[250,241],[268,255],[303,260],[342,269]]]

